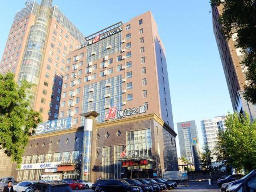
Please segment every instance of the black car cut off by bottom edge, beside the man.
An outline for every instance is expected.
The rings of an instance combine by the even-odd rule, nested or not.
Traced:
[[[24,192],[73,192],[64,182],[39,182],[30,185]]]

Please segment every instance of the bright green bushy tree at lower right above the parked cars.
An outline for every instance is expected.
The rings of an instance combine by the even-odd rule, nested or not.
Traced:
[[[248,114],[228,113],[226,130],[218,135],[218,160],[226,166],[250,171],[256,168],[256,122]]]

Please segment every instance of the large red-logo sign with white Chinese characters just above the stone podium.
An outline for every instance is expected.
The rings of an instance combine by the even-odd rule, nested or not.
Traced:
[[[125,110],[117,110],[116,107],[112,107],[109,109],[108,114],[105,116],[105,120],[114,119],[117,115],[118,118],[123,118],[126,116],[132,116],[136,114],[146,113],[146,107],[145,106],[139,106],[139,108],[128,108]]]

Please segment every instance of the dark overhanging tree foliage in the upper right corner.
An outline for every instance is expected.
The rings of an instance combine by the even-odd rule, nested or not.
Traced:
[[[248,83],[244,87],[245,98],[256,104],[256,0],[211,0],[211,6],[222,4],[220,24],[226,39],[237,32],[236,48],[242,48],[242,65]]]

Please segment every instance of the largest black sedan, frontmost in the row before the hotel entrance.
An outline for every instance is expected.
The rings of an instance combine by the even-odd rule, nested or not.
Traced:
[[[143,192],[139,186],[130,185],[128,182],[121,179],[111,179],[99,184],[96,192]]]

